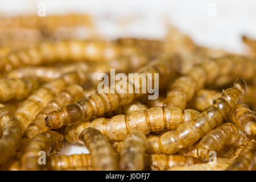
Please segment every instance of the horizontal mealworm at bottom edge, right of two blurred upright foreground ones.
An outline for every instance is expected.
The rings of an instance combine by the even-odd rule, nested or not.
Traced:
[[[173,166],[188,166],[202,163],[200,159],[183,155],[151,154],[145,155],[145,165],[151,170],[164,171]]]

